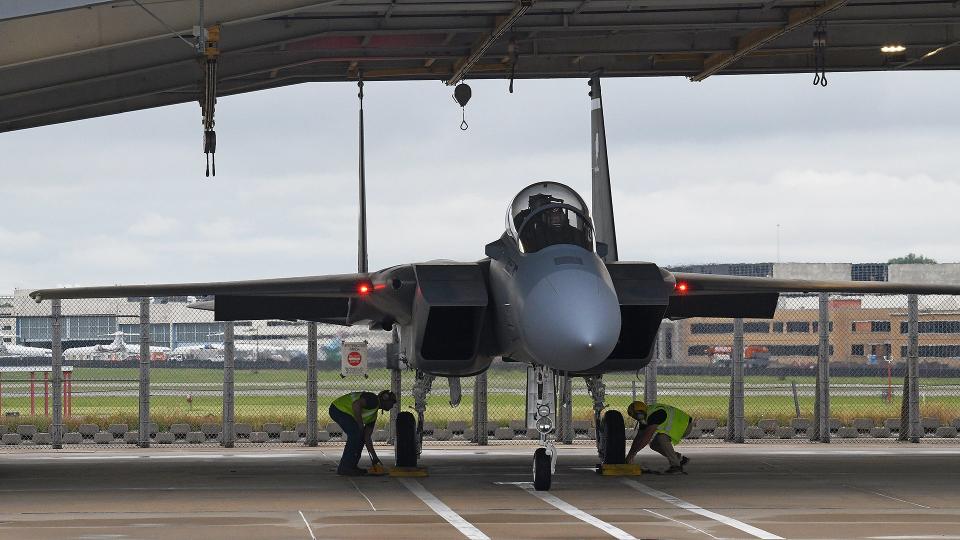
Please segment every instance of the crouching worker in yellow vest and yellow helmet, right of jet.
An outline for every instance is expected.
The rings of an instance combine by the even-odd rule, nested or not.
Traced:
[[[631,403],[627,407],[627,415],[639,422],[637,436],[627,452],[627,463],[633,463],[637,452],[649,444],[654,452],[670,462],[670,468],[665,471],[667,474],[682,473],[683,466],[690,458],[674,450],[673,445],[679,444],[690,434],[693,418],[676,407],[661,403],[654,403],[648,410],[647,404],[642,401]]]

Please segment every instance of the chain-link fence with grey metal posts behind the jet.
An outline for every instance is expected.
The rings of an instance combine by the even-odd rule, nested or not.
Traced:
[[[536,438],[524,364],[418,379],[404,365],[387,369],[390,332],[316,324],[312,338],[307,323],[222,323],[186,299],[70,300],[57,316],[51,302],[19,300],[16,342],[0,351],[4,444],[337,443],[334,399],[399,388],[401,409],[413,410],[414,386],[427,383],[426,441]],[[345,343],[365,344],[365,376],[341,375]],[[960,428],[960,297],[783,295],[770,320],[665,321],[653,356],[637,372],[605,375],[603,403],[677,406],[696,419],[694,439],[948,439]],[[589,441],[594,400],[583,378],[570,395],[563,438]],[[389,416],[380,415],[378,443],[391,439]]]

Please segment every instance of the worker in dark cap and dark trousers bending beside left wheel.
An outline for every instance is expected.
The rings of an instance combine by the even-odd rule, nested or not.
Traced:
[[[347,444],[343,447],[343,456],[340,457],[337,474],[361,476],[367,473],[365,469],[357,467],[364,445],[370,454],[372,464],[380,463],[380,458],[373,449],[373,427],[377,423],[377,413],[381,409],[389,411],[396,403],[396,394],[389,390],[379,394],[350,392],[333,400],[330,404],[330,418],[340,425],[343,434],[347,436]]]

